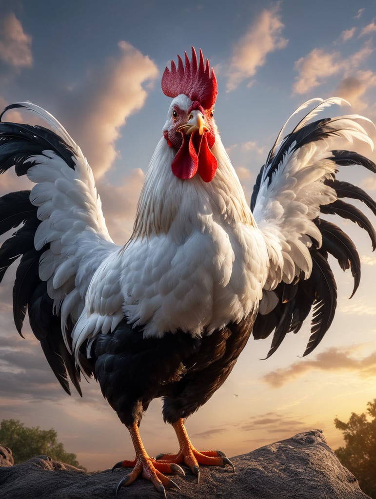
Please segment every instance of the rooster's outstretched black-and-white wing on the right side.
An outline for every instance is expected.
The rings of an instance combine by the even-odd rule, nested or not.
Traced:
[[[285,127],[281,130],[258,175],[251,199],[251,209],[270,257],[265,294],[253,329],[255,338],[265,338],[274,331],[268,357],[289,331],[301,328],[312,306],[311,336],[304,355],[319,344],[329,329],[337,305],[337,285],[328,254],[338,260],[342,269],[351,269],[353,294],[358,288],[361,265],[354,243],[321,215],[339,215],[357,223],[368,232],[373,250],[376,248],[371,222],[342,199],[360,200],[376,215],[375,201],[359,187],[336,178],[341,166],[359,165],[376,173],[376,165],[358,152],[332,148],[338,138],[347,142],[357,139],[373,148],[359,123],[367,119],[347,115],[312,122],[329,105],[346,102],[338,98],[314,99],[292,116],[315,101],[316,107],[283,140]]]

